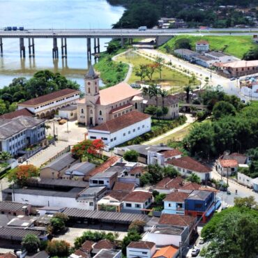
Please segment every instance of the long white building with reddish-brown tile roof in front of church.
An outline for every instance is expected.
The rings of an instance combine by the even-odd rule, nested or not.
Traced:
[[[151,116],[132,111],[116,117],[100,126],[89,128],[88,139],[102,139],[105,150],[114,148],[151,130]]]

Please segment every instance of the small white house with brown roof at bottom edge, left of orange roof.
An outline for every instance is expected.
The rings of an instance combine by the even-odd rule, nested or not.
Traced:
[[[126,257],[127,258],[135,258],[135,257],[151,258],[153,257],[155,250],[156,250],[156,245],[153,242],[132,241],[126,248]]]

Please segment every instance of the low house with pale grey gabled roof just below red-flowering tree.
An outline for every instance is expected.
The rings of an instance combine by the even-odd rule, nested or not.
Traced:
[[[86,174],[89,174],[93,169],[95,169],[96,165],[90,162],[79,162],[68,169],[62,175],[62,179],[73,179],[73,180],[83,180]]]

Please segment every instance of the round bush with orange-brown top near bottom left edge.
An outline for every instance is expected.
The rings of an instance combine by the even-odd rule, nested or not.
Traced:
[[[68,257],[70,252],[70,243],[64,240],[48,241],[46,252],[51,256]]]

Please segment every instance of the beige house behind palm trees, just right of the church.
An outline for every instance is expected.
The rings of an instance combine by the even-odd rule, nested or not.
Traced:
[[[168,95],[165,98],[158,96],[158,98],[150,98],[149,96],[144,96],[144,110],[146,107],[154,106],[157,107],[167,107],[168,112],[164,116],[164,119],[176,119],[179,117],[179,99],[176,96]]]

